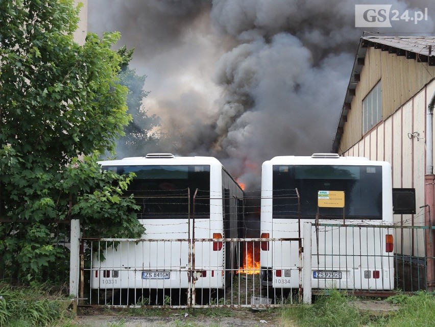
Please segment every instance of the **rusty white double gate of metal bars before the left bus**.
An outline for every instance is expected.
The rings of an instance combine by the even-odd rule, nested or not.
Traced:
[[[262,283],[261,242],[293,242],[299,247],[299,287]],[[210,250],[213,247],[219,250]],[[300,239],[82,238],[81,258],[79,306],[264,309],[300,303],[302,296]]]

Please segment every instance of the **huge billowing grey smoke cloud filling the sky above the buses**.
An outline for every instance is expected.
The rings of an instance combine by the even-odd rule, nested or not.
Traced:
[[[432,0],[381,3],[427,7],[429,19],[380,32],[433,32]],[[258,190],[263,161],[329,152],[363,32],[355,4],[89,0],[88,23],[136,49],[132,65],[151,91],[144,106],[173,140],[157,150],[215,156]]]

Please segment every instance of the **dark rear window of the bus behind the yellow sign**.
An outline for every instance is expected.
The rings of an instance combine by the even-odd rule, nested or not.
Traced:
[[[319,208],[322,217],[382,219],[381,166],[274,165],[274,218],[297,218],[296,188],[302,218],[315,218],[323,190],[344,191],[345,208]]]

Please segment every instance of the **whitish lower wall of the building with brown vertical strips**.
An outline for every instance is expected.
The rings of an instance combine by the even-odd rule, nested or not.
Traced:
[[[434,90],[432,81],[344,153],[388,161],[393,167],[393,187],[416,189],[417,214],[394,215],[394,221],[403,225],[424,225],[425,209],[420,207],[425,205],[426,108]],[[424,237],[413,233],[404,231],[403,244],[398,240],[397,247],[414,249],[406,255],[424,256]]]

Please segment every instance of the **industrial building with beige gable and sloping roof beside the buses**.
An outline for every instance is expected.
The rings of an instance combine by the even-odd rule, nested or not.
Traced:
[[[425,278],[428,290],[435,286],[434,77],[435,37],[364,33],[331,151],[388,161],[393,188],[415,193],[414,210],[400,210],[393,195],[395,224],[415,227],[402,230],[395,251],[409,280]]]

